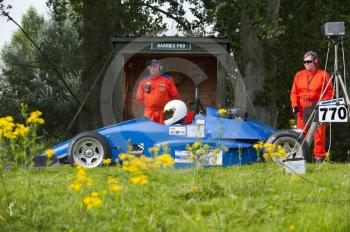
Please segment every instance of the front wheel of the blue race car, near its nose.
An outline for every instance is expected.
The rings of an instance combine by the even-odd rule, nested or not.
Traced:
[[[68,147],[68,162],[84,168],[95,168],[111,157],[111,146],[106,138],[95,132],[85,131],[76,135]]]

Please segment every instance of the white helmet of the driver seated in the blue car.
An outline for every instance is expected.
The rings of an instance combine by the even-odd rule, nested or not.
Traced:
[[[164,106],[163,117],[165,125],[172,125],[187,115],[187,107],[183,101],[172,100]]]

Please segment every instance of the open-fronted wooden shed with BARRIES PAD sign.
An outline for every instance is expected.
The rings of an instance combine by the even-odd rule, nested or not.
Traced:
[[[142,116],[135,100],[138,81],[147,75],[147,64],[159,59],[162,72],[171,75],[191,109],[195,85],[204,107],[225,104],[225,76],[229,62],[228,39],[207,37],[115,37],[114,58],[101,89],[101,113],[105,124]],[[112,110],[111,110],[112,109]]]

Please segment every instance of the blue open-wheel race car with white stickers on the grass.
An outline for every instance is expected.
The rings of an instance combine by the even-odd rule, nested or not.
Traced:
[[[101,166],[104,159],[111,158],[116,162],[123,153],[151,157],[149,148],[167,145],[175,160],[174,166],[188,167],[192,161],[186,146],[200,141],[216,149],[216,158],[208,158],[204,165],[229,166],[256,162],[258,153],[253,145],[258,141],[280,144],[289,152],[301,147],[299,137],[300,134],[292,130],[276,131],[257,120],[247,120],[242,114],[222,117],[215,108],[208,107],[205,116],[197,114],[187,125],[163,125],[141,117],[82,132],[52,150],[61,163],[68,161],[72,165],[77,163],[94,168]],[[307,147],[302,146],[301,150],[305,154]],[[208,157],[212,155],[211,151],[208,151]],[[40,156],[43,158],[45,154]]]

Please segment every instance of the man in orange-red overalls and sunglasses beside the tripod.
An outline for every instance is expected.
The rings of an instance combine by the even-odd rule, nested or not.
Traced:
[[[294,77],[293,87],[290,93],[290,101],[294,116],[297,116],[297,127],[304,128],[305,107],[317,103],[321,93],[325,90],[330,81],[330,75],[324,70],[317,68],[319,59],[315,52],[309,51],[304,55],[305,70],[297,72]],[[321,100],[332,99],[333,86],[329,83]],[[305,119],[306,120],[306,119]],[[308,124],[310,125],[310,124]],[[305,134],[307,133],[307,127]],[[314,135],[314,158],[316,162],[322,162],[325,159],[325,140],[326,127],[321,124]]]

